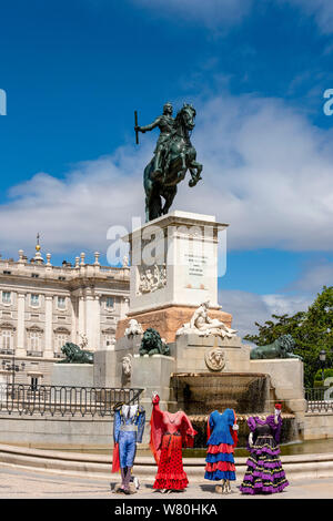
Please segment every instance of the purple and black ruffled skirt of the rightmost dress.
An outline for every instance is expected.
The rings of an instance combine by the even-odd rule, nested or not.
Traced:
[[[244,494],[282,492],[289,482],[273,437],[259,437],[250,452],[240,491]]]

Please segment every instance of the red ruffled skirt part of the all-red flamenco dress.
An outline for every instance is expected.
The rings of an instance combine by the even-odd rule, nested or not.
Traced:
[[[189,484],[183,470],[182,437],[164,435],[154,489],[183,490]]]

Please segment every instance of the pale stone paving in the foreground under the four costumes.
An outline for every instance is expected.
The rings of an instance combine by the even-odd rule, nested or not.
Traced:
[[[110,474],[110,481],[105,479],[51,473],[47,471],[26,470],[13,466],[0,464],[0,499],[109,499],[124,500],[130,504],[132,499],[209,499],[231,500],[249,499],[239,492],[240,481],[232,486],[232,493],[221,496],[215,493],[214,486],[205,482],[193,483],[185,492],[162,494],[152,489],[152,482],[141,482],[138,493],[123,496],[111,492],[115,486],[114,474]],[[333,477],[322,479],[302,479],[290,482],[282,493],[261,497],[269,499],[333,499]]]

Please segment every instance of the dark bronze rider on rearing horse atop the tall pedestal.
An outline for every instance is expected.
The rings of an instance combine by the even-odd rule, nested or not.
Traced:
[[[174,120],[170,112],[172,113],[172,105],[167,103],[163,115],[154,123],[145,127],[135,126],[135,130],[141,132],[155,126],[161,130],[155,155],[144,168],[147,222],[168,214],[176,194],[178,183],[184,180],[188,170],[191,174],[190,187],[195,186],[202,178],[202,164],[196,162],[196,151],[190,141],[190,133],[195,126],[195,109],[184,104]]]

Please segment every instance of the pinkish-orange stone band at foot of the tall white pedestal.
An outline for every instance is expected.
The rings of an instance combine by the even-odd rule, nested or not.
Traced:
[[[124,336],[124,330],[129,326],[131,318],[135,318],[141,324],[143,330],[152,327],[157,329],[164,338],[167,344],[175,341],[175,333],[183,324],[189,323],[198,306],[165,306],[150,311],[138,314],[129,314],[128,318],[119,320],[117,326],[115,338],[120,339]],[[231,327],[232,315],[221,311],[220,309],[210,308],[210,317],[219,318],[228,327]]]

